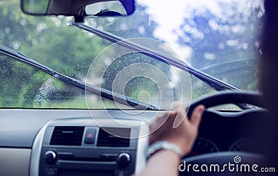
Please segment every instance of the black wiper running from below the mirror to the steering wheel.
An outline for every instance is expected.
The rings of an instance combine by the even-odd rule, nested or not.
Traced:
[[[70,21],[70,26],[74,26],[76,28],[85,30],[89,33],[93,33],[95,35],[98,35],[99,37],[108,39],[111,42],[117,42],[117,44],[125,46],[126,48],[129,48],[129,49],[132,49],[133,51],[140,52],[140,53],[148,55],[156,60],[161,60],[162,62],[170,64],[174,67],[177,67],[183,71],[187,71],[188,73],[193,74],[195,77],[199,78],[200,80],[206,82],[206,84],[211,86],[216,91],[222,91],[222,90],[241,91],[240,89],[238,89],[232,85],[229,85],[227,82],[223,82],[222,80],[219,80],[218,78],[210,76],[207,73],[199,71],[198,69],[195,69],[194,67],[190,67],[188,64],[186,64],[182,60],[178,60],[177,58],[171,57],[169,55],[158,53],[157,51],[149,49],[145,46],[136,44],[134,42],[130,42],[129,40],[126,40],[126,39],[119,37],[117,35],[114,35],[112,33],[108,33],[107,31],[99,30],[98,28],[94,28],[92,26],[88,26],[83,23],[77,23],[74,21]]]

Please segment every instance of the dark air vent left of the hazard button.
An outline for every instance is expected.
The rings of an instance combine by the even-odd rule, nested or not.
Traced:
[[[55,127],[50,145],[81,146],[84,127]]]

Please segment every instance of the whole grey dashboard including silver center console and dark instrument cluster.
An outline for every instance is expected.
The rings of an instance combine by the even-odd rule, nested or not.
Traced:
[[[147,122],[163,113],[101,109],[0,109],[0,175],[138,173],[146,163]],[[265,146],[261,142],[261,130],[268,125],[263,118],[266,113],[263,109],[243,112],[207,109],[195,146],[183,159],[222,152],[263,155]],[[126,136],[121,137],[123,134]]]

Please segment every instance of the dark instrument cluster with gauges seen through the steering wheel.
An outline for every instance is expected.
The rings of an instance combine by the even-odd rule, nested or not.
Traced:
[[[199,127],[199,137],[186,157],[223,151],[262,154],[265,146],[261,141],[261,130],[267,125],[264,119],[266,114],[262,109],[245,112],[206,111]]]

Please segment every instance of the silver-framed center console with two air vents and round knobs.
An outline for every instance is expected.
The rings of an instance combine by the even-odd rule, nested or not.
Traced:
[[[105,120],[104,120],[105,121]],[[124,123],[129,123],[126,120]],[[30,175],[132,175],[145,166],[144,126],[119,127],[92,118],[51,121],[38,133],[31,154]],[[145,129],[144,129],[145,128]]]

